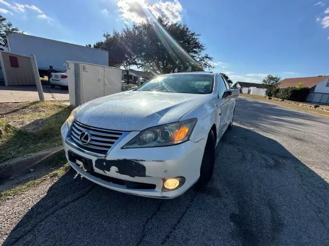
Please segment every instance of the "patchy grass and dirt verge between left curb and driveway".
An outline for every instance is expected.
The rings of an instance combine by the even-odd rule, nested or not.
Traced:
[[[56,101],[0,104],[0,163],[62,144],[72,108]]]

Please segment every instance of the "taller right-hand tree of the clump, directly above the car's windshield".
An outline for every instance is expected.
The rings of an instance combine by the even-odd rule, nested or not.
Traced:
[[[191,66],[192,71],[203,71],[212,68],[205,46],[199,40],[199,34],[188,26],[170,23],[166,17],[157,20],[146,20],[133,24],[142,38],[138,46],[138,60],[145,70],[157,73],[174,73],[181,66]]]

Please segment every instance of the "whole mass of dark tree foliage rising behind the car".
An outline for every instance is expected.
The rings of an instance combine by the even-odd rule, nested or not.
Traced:
[[[109,66],[124,67],[127,72],[130,66],[160,74],[186,66],[203,71],[212,68],[212,57],[204,54],[206,48],[199,36],[188,26],[170,23],[160,16],[156,21],[125,26],[121,32],[105,33],[105,40],[93,47],[108,50]]]

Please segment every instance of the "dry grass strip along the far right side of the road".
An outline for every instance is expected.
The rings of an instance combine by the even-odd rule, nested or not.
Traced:
[[[315,109],[315,108],[313,108],[314,104],[307,104],[307,103],[300,103],[300,105],[289,104],[287,101],[270,100],[270,99],[265,98],[264,96],[256,96],[256,95],[250,95],[250,94],[241,94],[241,97],[250,97],[250,98],[260,100],[260,101],[266,101],[266,103],[277,104],[277,105],[280,105],[285,108],[295,109],[295,110],[301,111],[301,112],[307,112],[307,113],[311,113],[311,114],[317,114],[317,115],[329,117],[328,111]],[[299,103],[299,102],[295,102],[295,103]],[[307,107],[302,106],[301,104],[307,105]],[[322,105],[320,106],[320,108],[329,109],[328,106],[322,106]]]

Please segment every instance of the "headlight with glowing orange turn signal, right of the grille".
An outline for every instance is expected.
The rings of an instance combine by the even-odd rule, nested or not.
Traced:
[[[177,145],[189,140],[196,119],[188,119],[175,123],[151,127],[141,131],[136,137],[127,142],[122,149],[147,148]]]

